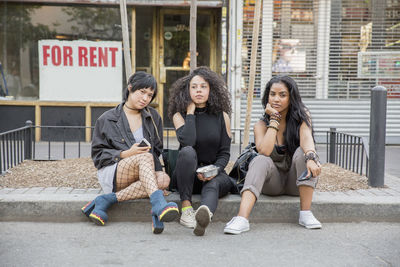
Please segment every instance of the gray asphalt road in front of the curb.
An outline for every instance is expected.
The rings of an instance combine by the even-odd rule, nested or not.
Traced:
[[[0,223],[1,266],[400,266],[400,223],[251,224],[204,237],[177,223]]]

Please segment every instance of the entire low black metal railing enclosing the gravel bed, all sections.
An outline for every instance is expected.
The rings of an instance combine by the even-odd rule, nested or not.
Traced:
[[[35,128],[47,131],[44,141],[35,141]],[[85,141],[85,126],[33,126],[27,121],[26,126],[0,133],[0,174],[20,164],[25,159],[60,160],[90,156],[90,142]],[[56,131],[55,134],[51,131]],[[73,131],[67,134],[68,131]],[[164,128],[164,147],[178,148],[179,143],[174,128]],[[232,143],[239,155],[242,151],[243,129],[232,129]],[[172,133],[171,133],[172,132]],[[344,169],[365,174],[368,177],[368,142],[363,137],[336,132],[331,128],[326,132],[326,159]],[[43,137],[43,135],[42,135]]]

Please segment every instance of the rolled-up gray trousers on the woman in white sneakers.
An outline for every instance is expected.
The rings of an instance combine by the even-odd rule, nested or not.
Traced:
[[[304,152],[301,147],[298,147],[293,154],[292,165],[287,172],[278,170],[270,157],[258,155],[249,164],[249,171],[240,193],[250,190],[256,198],[261,193],[269,196],[298,196],[298,186],[305,185],[315,188],[318,182],[318,177],[297,181],[297,177],[306,169]]]

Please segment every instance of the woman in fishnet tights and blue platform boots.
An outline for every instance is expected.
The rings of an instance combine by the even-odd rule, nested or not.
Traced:
[[[105,194],[82,212],[98,225],[107,222],[106,211],[112,204],[146,197],[152,205],[153,233],[161,233],[163,222],[179,215],[176,203],[167,203],[162,191],[170,180],[158,159],[163,128],[160,115],[148,107],[156,94],[155,78],[136,72],[128,80],[124,101],[96,121],[92,159]]]

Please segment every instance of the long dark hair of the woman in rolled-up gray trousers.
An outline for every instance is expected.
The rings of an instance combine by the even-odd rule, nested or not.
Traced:
[[[311,128],[313,138],[314,133],[311,126],[311,117],[308,115],[308,109],[301,100],[297,83],[289,76],[275,76],[265,86],[261,103],[265,109],[269,100],[269,92],[274,83],[283,83],[289,90],[289,108],[286,114],[286,130],[283,133],[288,153],[292,157],[300,145],[300,126],[303,122]],[[265,123],[269,123],[269,115],[264,113],[261,118]]]

